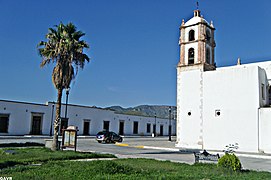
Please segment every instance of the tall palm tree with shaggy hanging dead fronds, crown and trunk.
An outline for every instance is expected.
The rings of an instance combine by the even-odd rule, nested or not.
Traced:
[[[70,87],[78,69],[83,69],[85,62],[89,62],[89,57],[83,53],[83,49],[89,48],[89,45],[84,40],[80,40],[85,33],[77,31],[72,23],[67,25],[60,23],[54,27],[49,28],[46,34],[47,42],[39,42],[38,52],[42,57],[41,67],[50,63],[55,64],[52,81],[57,89],[57,104],[52,150],[56,151],[58,150],[62,91]]]

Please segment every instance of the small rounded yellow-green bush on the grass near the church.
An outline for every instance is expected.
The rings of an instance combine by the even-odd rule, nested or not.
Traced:
[[[238,157],[235,154],[226,153],[218,160],[218,167],[224,167],[233,171],[241,171],[242,165]]]

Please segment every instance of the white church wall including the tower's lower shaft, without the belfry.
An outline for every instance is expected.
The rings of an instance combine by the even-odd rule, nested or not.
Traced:
[[[258,111],[268,104],[267,92],[262,98],[261,86],[268,86],[264,69],[257,65],[206,72],[178,69],[177,80],[177,147],[223,150],[238,143],[239,151],[259,152],[260,138],[266,142],[259,136],[264,132]]]

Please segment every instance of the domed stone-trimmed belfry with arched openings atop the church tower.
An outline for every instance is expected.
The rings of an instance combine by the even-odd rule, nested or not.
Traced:
[[[183,71],[202,69],[215,70],[215,28],[209,24],[199,9],[194,10],[194,17],[180,26],[180,61],[178,67]]]

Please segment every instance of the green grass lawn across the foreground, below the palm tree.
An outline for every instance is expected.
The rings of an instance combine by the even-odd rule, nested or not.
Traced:
[[[41,149],[51,158],[40,157],[41,166],[27,166],[25,162],[33,162],[31,155],[22,158],[18,154],[8,155],[10,159],[24,162],[0,171],[0,177],[12,177],[13,179],[271,179],[271,173],[267,172],[232,172],[230,170],[218,168],[215,164],[195,164],[188,165],[182,163],[172,163],[169,161],[156,161],[150,159],[117,159],[110,161],[69,161],[59,160],[60,157],[68,157],[74,152],[51,152]],[[29,149],[25,151],[39,151]],[[39,151],[40,153],[40,151]],[[36,154],[39,154],[36,153]],[[35,153],[33,153],[35,154]],[[56,154],[56,156],[54,155]],[[76,153],[79,154],[79,153]],[[2,159],[2,156],[6,160]],[[7,155],[1,155],[1,162],[6,162]],[[47,156],[47,155],[45,155]],[[55,158],[55,157],[57,158]],[[85,154],[82,154],[83,158]],[[98,155],[96,155],[98,156]],[[70,156],[74,158],[74,155]],[[70,159],[62,158],[62,159]],[[15,158],[15,159],[14,159]],[[23,160],[24,159],[24,160]],[[36,157],[36,162],[41,162]],[[16,161],[17,162],[17,161]]]

